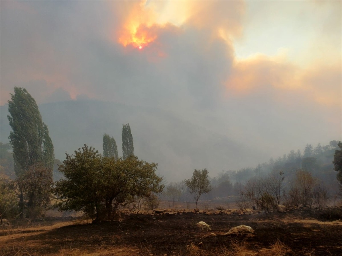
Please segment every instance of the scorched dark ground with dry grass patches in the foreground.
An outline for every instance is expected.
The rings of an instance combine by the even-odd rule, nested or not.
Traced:
[[[317,216],[307,210],[241,216],[137,214],[100,224],[71,217],[12,221],[1,226],[0,251],[1,255],[341,255],[341,220]],[[195,226],[199,221],[211,230]],[[254,233],[223,236],[241,224]]]

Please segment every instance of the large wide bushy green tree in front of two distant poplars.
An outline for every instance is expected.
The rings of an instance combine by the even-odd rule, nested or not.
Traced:
[[[56,194],[62,199],[60,210],[83,211],[101,221],[112,219],[119,205],[134,197],[161,193],[162,178],[155,174],[156,163],[131,156],[125,160],[102,157],[94,148],[84,145],[74,155],[66,154],[59,170],[65,180],[56,182]]]

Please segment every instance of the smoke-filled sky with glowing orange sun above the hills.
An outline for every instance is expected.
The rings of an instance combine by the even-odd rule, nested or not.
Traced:
[[[153,107],[278,156],[341,139],[341,31],[342,1],[0,1],[0,105]]]

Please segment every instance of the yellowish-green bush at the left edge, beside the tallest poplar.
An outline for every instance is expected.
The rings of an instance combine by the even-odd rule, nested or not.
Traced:
[[[0,179],[0,219],[15,217],[18,212],[18,196],[14,182]]]

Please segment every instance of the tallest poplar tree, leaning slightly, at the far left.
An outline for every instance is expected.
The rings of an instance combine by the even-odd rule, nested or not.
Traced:
[[[14,87],[14,95],[8,101],[8,120],[12,131],[14,171],[17,177],[25,174],[30,166],[43,163],[52,175],[54,163],[53,144],[48,127],[43,123],[35,99],[25,88]],[[24,210],[24,195],[19,183],[19,207]],[[23,217],[23,214],[21,215]]]

